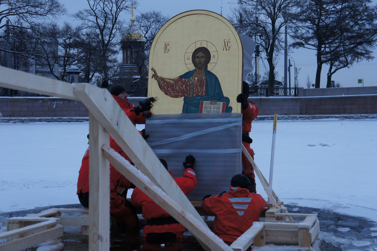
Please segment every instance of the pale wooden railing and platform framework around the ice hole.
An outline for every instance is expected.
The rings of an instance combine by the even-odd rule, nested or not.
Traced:
[[[110,248],[109,161],[120,173],[126,175],[133,184],[136,184],[164,210],[175,217],[178,222],[189,229],[205,250],[245,250],[251,243],[257,246],[265,245],[268,242],[282,243],[282,241],[296,243],[302,248],[310,248],[311,243],[319,233],[319,222],[316,214],[300,214],[300,217],[305,217],[305,220],[302,222],[290,220],[288,221],[290,223],[287,223],[287,218],[291,219],[291,217],[295,217],[297,214],[287,213],[284,203],[277,199],[274,191],[270,192],[268,190],[266,179],[250,155],[247,152],[245,153],[245,148],[243,147],[244,153],[253,165],[262,186],[271,200],[272,208],[266,212],[267,222],[254,223],[238,240],[231,246],[228,246],[207,227],[191,202],[179,189],[152,149],[147,145],[132,122],[106,89],[100,89],[89,84],[72,85],[5,67],[0,67],[0,75],[2,76],[0,79],[1,87],[78,100],[82,101],[89,109],[91,145],[89,169],[91,181],[89,207],[90,251],[106,251]],[[116,140],[132,162],[135,163],[137,169],[109,147],[109,135]],[[34,215],[26,225],[31,224],[31,222],[34,222],[34,224],[26,227],[21,227],[20,223],[9,223],[18,224],[18,227],[21,228],[10,229],[17,228],[16,225],[12,225],[12,227],[9,227],[8,232],[0,234],[1,239],[8,237],[14,239],[1,244],[0,250],[20,250],[26,248],[25,245],[35,245],[34,243],[38,238],[39,240],[46,241],[46,239],[60,237],[63,234],[63,227],[59,224],[59,220],[64,224],[72,224],[70,219],[61,217],[61,211],[61,209],[58,209],[40,214],[40,216],[54,216],[60,217],[60,219],[43,218]],[[82,221],[77,223],[78,225],[88,224],[84,217],[86,216],[81,217]],[[36,223],[40,219],[45,222]],[[23,222],[28,222],[28,220],[24,220]],[[49,227],[49,229],[40,231],[37,234],[32,232],[38,228],[46,227],[50,223],[52,225],[49,226],[53,227]],[[86,227],[86,225],[82,226]],[[33,234],[25,236],[27,233]],[[287,238],[283,240],[282,235],[284,234],[290,234],[293,237],[290,240],[286,240]],[[22,235],[24,236],[22,240],[17,239],[20,235],[21,237]],[[276,236],[276,239],[273,239],[272,236]],[[4,247],[7,248],[4,249]]]

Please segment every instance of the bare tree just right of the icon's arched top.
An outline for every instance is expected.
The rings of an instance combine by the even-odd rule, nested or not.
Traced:
[[[274,58],[284,49],[282,29],[290,17],[300,15],[301,0],[239,0],[239,9],[231,21],[239,33],[258,37],[257,44],[266,53],[269,66],[268,87],[274,87]]]

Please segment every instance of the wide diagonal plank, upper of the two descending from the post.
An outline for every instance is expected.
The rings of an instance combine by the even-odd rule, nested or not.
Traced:
[[[207,227],[199,213],[182,190],[179,189],[172,176],[110,93],[106,89],[100,89],[89,84],[75,84],[74,92],[101,125],[107,129],[107,132],[110,133],[138,169],[177,204],[189,211],[198,222]],[[91,139],[90,142],[92,142]]]

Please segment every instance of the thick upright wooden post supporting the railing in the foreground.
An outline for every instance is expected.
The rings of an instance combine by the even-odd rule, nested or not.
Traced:
[[[110,164],[102,154],[109,134],[89,112],[89,251],[110,250]]]

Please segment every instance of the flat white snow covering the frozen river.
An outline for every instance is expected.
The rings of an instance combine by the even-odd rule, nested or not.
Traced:
[[[273,190],[279,199],[377,221],[375,128],[377,119],[278,117]],[[0,129],[0,212],[79,203],[76,183],[88,122],[0,123]],[[255,162],[267,179],[272,132],[272,120],[253,122]],[[267,198],[258,181],[257,191]]]

